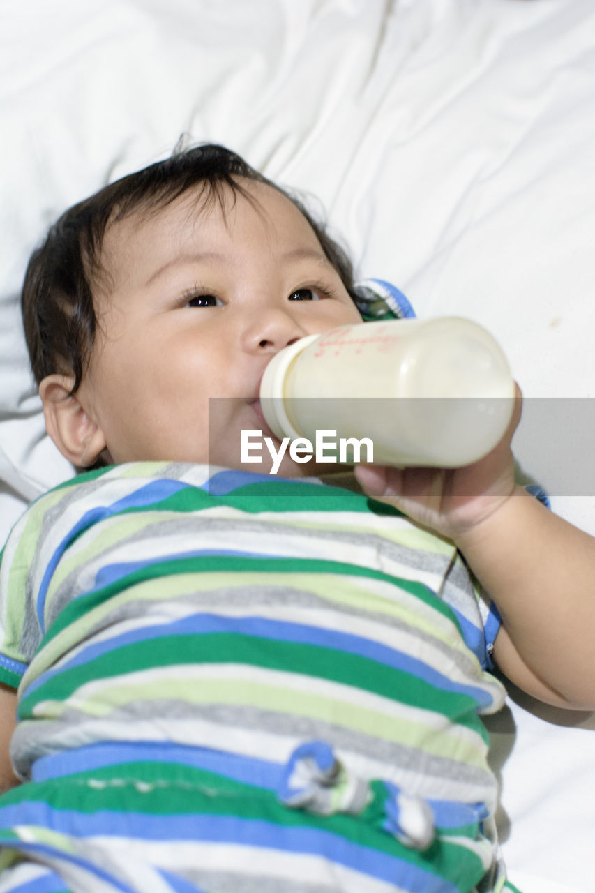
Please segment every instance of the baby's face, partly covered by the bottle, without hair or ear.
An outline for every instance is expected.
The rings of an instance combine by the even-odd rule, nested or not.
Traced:
[[[109,289],[97,297],[99,331],[77,396],[113,463],[269,471],[265,448],[263,463],[240,454],[241,430],[272,436],[258,400],[266,364],[297,338],[361,321],[298,208],[241,182],[254,204],[229,193],[222,213],[190,191],[105,234]],[[234,399],[212,400],[209,413],[211,397]],[[288,454],[278,473],[315,472]]]

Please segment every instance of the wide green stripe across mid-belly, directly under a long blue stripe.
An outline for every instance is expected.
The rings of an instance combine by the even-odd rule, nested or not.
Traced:
[[[476,728],[469,717],[472,714],[474,718],[475,701],[468,695],[436,689],[415,675],[334,648],[226,632],[162,636],[114,648],[51,677],[22,699],[19,716],[30,717],[41,701],[64,701],[91,681],[157,667],[198,663],[243,663],[331,680],[397,703],[431,710]]]

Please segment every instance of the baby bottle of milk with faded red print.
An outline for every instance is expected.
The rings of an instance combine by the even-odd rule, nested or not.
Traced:
[[[314,443],[316,431],[336,431],[348,462],[360,461],[350,438],[368,438],[374,463],[457,468],[502,438],[515,384],[489,332],[451,316],[300,338],[272,358],[260,397],[278,438]],[[368,458],[364,450],[361,461]]]

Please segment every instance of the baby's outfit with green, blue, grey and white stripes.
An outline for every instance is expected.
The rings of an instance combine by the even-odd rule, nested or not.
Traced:
[[[498,616],[319,480],[88,472],[0,563],[0,893],[499,893]]]

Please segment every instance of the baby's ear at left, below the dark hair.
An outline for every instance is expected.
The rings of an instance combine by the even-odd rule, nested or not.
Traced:
[[[79,468],[88,468],[105,449],[103,431],[92,421],[80,400],[71,394],[74,379],[48,375],[39,385],[46,430],[62,455]]]

